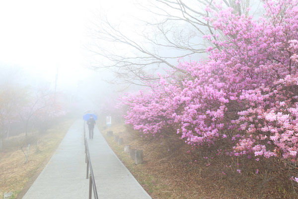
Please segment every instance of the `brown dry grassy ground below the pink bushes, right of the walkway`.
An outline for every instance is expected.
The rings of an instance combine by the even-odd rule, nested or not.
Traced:
[[[107,129],[99,127],[152,199],[294,199],[297,196],[289,187],[287,174],[268,169],[270,165],[262,165],[264,162],[215,155],[214,151],[194,152],[178,137],[142,139],[123,123],[113,125],[110,130],[124,138],[124,145],[143,150],[144,164],[135,165],[123,151],[124,145],[117,144],[114,137],[107,137]],[[256,168],[260,169],[258,175]]]

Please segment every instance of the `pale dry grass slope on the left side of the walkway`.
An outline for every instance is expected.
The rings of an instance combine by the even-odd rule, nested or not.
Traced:
[[[0,199],[7,192],[13,192],[12,198],[15,198],[36,171],[42,170],[40,167],[53,155],[72,122],[62,122],[44,134],[31,134],[27,138],[21,135],[5,141],[6,147],[0,153]]]

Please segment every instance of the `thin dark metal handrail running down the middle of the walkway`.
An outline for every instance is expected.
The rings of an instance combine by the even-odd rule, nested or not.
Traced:
[[[95,180],[94,180],[94,174],[93,174],[93,169],[91,165],[91,160],[90,160],[90,153],[89,153],[89,147],[88,147],[88,142],[87,138],[84,137],[84,144],[85,144],[85,163],[87,163],[87,172],[86,172],[86,179],[88,179],[88,174],[89,171],[88,169],[90,168],[90,176],[89,176],[89,199],[92,198],[92,187],[93,187],[93,194],[94,194],[94,199],[98,199],[97,196],[97,190],[96,190],[96,185],[95,185]]]

